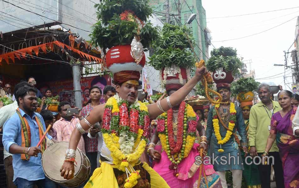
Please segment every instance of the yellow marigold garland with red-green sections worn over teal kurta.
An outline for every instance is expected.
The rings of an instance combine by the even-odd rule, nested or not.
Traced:
[[[235,121],[236,121],[236,110],[235,110],[235,105],[234,103],[230,103],[230,107],[229,107],[229,123],[228,123],[228,129],[226,131],[226,135],[225,137],[222,139],[221,134],[220,134],[220,127],[219,127],[219,117],[217,116],[217,112],[216,110],[218,110],[220,107],[220,104],[216,104],[214,111],[213,111],[213,128],[215,131],[215,136],[218,140],[218,144],[220,144],[220,149],[218,149],[218,152],[222,153],[224,152],[224,150],[221,148],[221,144],[225,144],[229,141],[231,135],[233,134],[233,130],[234,130],[234,126],[235,126]]]

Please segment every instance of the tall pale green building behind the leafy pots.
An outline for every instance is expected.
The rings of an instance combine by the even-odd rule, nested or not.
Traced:
[[[187,2],[187,3],[186,3]],[[150,0],[150,5],[152,6],[155,14],[159,17],[163,22],[166,22],[166,17],[164,13],[167,13],[167,1],[166,0]],[[178,0],[169,0],[169,13],[172,14],[178,14],[176,3],[178,3]],[[196,20],[194,20],[191,24],[188,24],[189,27],[192,27],[193,30],[193,36],[195,38],[196,42],[196,48],[195,52],[196,55],[203,60],[207,60],[206,56],[208,54],[206,51],[208,51],[208,46],[206,45],[205,41],[205,33],[204,29],[206,28],[206,10],[202,7],[201,0],[180,0],[181,3],[181,23],[184,24],[189,16],[193,13],[196,14],[197,22],[200,24],[200,26],[197,24]],[[190,9],[192,12],[190,11]],[[160,15],[159,15],[160,14]],[[167,16],[170,19],[171,24],[178,24],[176,19],[170,15]],[[178,16],[176,16],[178,18]],[[201,27],[201,29],[200,29]],[[201,49],[201,50],[200,50]],[[204,55],[206,53],[206,56]],[[209,56],[208,56],[209,57]]]

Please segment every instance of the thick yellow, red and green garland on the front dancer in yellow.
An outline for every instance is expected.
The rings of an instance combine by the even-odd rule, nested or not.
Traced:
[[[118,95],[108,99],[104,109],[102,132],[104,142],[111,152],[113,164],[118,170],[126,172],[129,166],[133,167],[138,163],[145,149],[147,139],[144,135],[148,134],[149,123],[149,112],[144,103],[134,102],[129,106]],[[122,151],[129,151],[127,152],[129,154],[121,151],[120,142],[123,146]],[[124,150],[126,147],[129,150]],[[137,171],[128,177],[125,187],[136,185],[140,175],[139,172],[135,172]]]

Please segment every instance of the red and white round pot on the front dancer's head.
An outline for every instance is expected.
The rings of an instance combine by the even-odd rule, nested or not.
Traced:
[[[131,55],[131,45],[119,45],[110,48],[106,53],[106,66],[112,73],[120,72],[122,70],[141,71],[145,65],[145,55],[142,51],[143,57],[139,65]]]

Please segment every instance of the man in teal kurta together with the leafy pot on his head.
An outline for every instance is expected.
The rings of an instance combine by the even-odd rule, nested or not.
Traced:
[[[208,115],[206,136],[209,145],[209,155],[217,158],[214,169],[220,176],[223,188],[227,188],[225,171],[232,171],[233,187],[241,188],[242,165],[241,151],[238,147],[238,130],[242,143],[241,146],[247,154],[247,135],[242,111],[230,102],[230,87],[234,80],[233,75],[240,68],[241,62],[236,56],[236,50],[220,47],[211,52],[211,58],[207,62],[207,69],[213,72],[213,80],[217,83],[217,92],[220,93],[222,101],[213,106]],[[222,60],[230,60],[224,63]],[[238,157],[239,156],[239,157]],[[220,163],[224,158],[226,163]],[[228,161],[229,160],[229,161]]]

